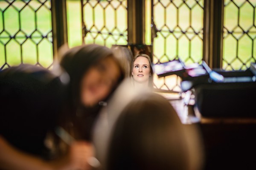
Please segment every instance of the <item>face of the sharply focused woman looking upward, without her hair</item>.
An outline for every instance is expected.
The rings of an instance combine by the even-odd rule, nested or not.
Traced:
[[[146,57],[137,57],[134,61],[132,76],[136,82],[148,82],[151,76],[150,63]]]

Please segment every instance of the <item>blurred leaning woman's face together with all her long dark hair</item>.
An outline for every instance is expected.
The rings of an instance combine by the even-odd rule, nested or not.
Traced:
[[[113,91],[123,79],[121,66],[110,48],[89,44],[59,51],[59,65],[70,79],[65,129],[76,139],[91,140],[91,127]]]

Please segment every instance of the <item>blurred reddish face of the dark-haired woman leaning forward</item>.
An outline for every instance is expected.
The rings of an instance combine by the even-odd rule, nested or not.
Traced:
[[[84,74],[81,80],[81,102],[93,106],[105,99],[121,76],[120,69],[112,57],[101,59]]]

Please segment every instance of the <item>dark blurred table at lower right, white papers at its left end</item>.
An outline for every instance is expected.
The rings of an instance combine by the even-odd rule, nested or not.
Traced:
[[[184,99],[170,99],[183,124],[198,124],[206,153],[205,170],[256,169],[256,117],[204,117]]]

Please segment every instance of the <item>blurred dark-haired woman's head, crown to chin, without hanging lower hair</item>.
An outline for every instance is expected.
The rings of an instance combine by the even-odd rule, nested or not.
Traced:
[[[105,100],[123,79],[119,62],[111,49],[80,45],[62,53],[60,65],[70,77],[73,105],[92,107]]]

